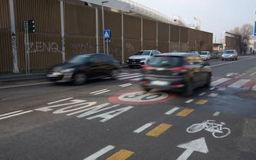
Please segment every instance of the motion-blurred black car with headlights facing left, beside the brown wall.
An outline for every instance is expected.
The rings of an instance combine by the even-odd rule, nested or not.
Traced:
[[[47,78],[55,82],[73,82],[80,85],[96,78],[117,77],[120,63],[111,54],[79,54],[63,65],[53,67]]]

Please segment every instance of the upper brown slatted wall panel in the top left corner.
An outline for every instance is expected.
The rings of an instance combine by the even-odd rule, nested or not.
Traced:
[[[10,29],[10,7],[9,0],[0,1],[0,29]]]

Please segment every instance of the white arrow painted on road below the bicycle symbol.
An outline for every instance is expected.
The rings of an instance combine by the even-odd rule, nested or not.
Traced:
[[[199,138],[197,140],[193,140],[193,141],[187,142],[185,144],[180,144],[177,147],[186,149],[184,151],[184,153],[182,153],[182,155],[180,155],[180,157],[177,158],[177,160],[186,160],[186,159],[188,159],[188,157],[190,157],[190,155],[194,151],[197,151],[199,153],[208,153],[208,151],[209,151],[208,147],[205,143],[205,138]]]

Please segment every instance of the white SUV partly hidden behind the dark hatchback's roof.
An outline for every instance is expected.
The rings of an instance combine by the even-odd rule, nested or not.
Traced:
[[[158,50],[140,50],[137,54],[130,56],[127,60],[128,67],[141,67],[146,65],[147,61],[154,55],[160,54]]]

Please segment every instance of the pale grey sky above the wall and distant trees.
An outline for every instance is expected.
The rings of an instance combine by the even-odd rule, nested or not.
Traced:
[[[201,20],[201,30],[213,33],[213,41],[230,31],[256,21],[256,0],[132,0],[166,16],[177,14],[187,23],[196,25],[193,16]],[[216,41],[215,41],[216,40]]]

